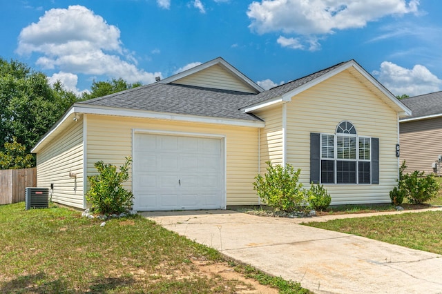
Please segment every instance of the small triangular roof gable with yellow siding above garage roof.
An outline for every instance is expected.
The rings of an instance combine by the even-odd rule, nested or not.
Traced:
[[[163,79],[160,83],[234,90],[253,94],[264,90],[221,57]]]

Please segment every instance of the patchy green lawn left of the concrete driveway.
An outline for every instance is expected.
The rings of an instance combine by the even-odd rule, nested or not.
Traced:
[[[0,293],[238,293],[242,280],[200,270],[226,264],[202,246],[140,216],[102,221],[67,208],[0,206]],[[299,284],[230,263],[235,273],[306,293]]]

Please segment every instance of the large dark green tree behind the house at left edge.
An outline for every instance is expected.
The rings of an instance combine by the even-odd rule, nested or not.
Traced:
[[[52,88],[42,72],[0,57],[0,151],[15,137],[29,153],[77,99],[60,82]]]

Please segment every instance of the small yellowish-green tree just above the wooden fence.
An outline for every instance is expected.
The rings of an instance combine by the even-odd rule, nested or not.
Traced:
[[[5,151],[0,151],[0,170],[30,168],[33,165],[34,157],[26,153],[26,147],[12,138],[12,143],[4,144]]]

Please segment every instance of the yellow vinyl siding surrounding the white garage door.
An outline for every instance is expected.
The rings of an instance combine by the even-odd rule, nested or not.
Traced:
[[[258,204],[258,196],[252,184],[258,173],[258,128],[88,115],[88,175],[96,173],[93,166],[96,161],[103,160],[121,166],[124,157],[133,156],[134,129],[179,132],[189,136],[192,134],[225,136],[227,205]],[[126,183],[126,188],[132,189],[131,180]]]

